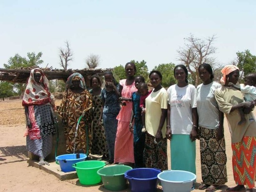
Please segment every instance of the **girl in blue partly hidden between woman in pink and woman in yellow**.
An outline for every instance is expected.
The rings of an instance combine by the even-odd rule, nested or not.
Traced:
[[[135,87],[138,89],[138,86],[141,82],[145,83],[145,79],[143,76],[138,75],[134,79]],[[133,133],[133,153],[134,153],[134,168],[145,167],[143,161],[143,151],[145,146],[145,133],[141,132],[142,130],[142,118],[141,118],[141,108],[140,108],[140,93],[138,91],[133,92],[132,94],[132,102],[133,102],[133,110],[131,112],[131,120],[130,120],[130,131]],[[134,126],[133,126],[134,119]]]

